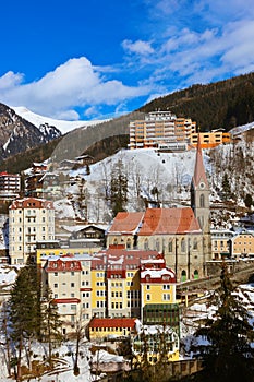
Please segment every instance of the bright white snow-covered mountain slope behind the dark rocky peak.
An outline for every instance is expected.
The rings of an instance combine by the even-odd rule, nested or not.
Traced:
[[[37,128],[40,128],[40,126],[53,126],[57,129],[59,129],[62,134],[77,129],[82,127],[98,124],[100,122],[104,122],[104,120],[94,120],[94,121],[65,121],[60,119],[53,119],[49,117],[43,117],[39,116],[31,110],[28,110],[26,107],[17,106],[12,107],[12,109],[22,118],[26,119]]]

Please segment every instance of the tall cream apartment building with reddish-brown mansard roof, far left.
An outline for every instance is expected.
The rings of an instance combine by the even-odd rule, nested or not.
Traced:
[[[36,254],[36,242],[55,239],[55,210],[52,202],[25,198],[9,207],[9,255],[11,264],[25,264]]]

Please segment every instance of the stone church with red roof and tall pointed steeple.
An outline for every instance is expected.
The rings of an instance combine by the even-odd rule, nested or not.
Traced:
[[[205,277],[206,262],[211,260],[209,191],[198,141],[191,206],[119,212],[108,231],[107,247],[156,250],[178,282]]]

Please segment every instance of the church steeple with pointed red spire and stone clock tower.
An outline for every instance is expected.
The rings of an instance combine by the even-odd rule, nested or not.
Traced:
[[[196,162],[191,184],[191,206],[199,223],[203,234],[209,234],[209,184],[203,162],[201,138],[196,147]]]

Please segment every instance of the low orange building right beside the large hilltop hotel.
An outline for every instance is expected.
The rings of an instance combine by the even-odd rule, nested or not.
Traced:
[[[222,131],[211,131],[204,133],[192,133],[191,134],[191,146],[197,147],[198,136],[201,140],[202,148],[213,148],[221,143],[227,144],[231,142],[231,134]]]

